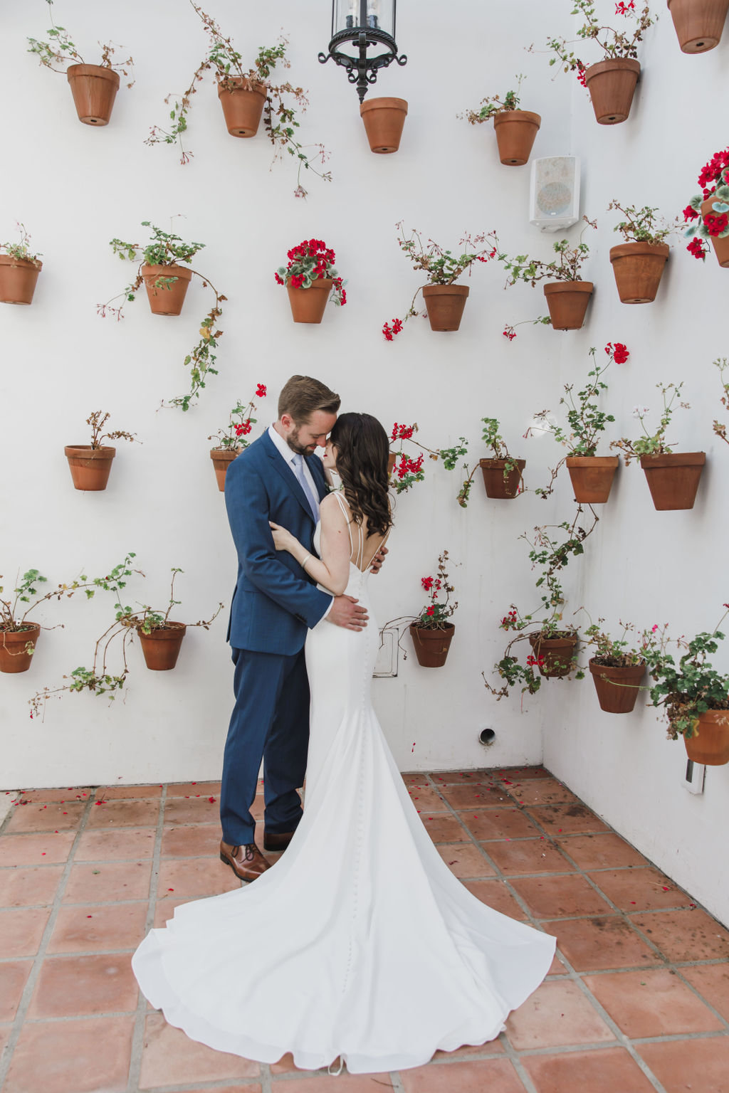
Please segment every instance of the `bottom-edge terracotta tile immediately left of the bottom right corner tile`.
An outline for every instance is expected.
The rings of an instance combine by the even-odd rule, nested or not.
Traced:
[[[521,1059],[537,1093],[655,1093],[652,1082],[622,1047]]]

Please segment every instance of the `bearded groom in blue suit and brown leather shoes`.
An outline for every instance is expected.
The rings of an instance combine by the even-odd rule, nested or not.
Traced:
[[[284,850],[302,818],[309,687],[307,630],[327,616],[363,630],[367,613],[351,596],[320,591],[286,551],[277,552],[269,520],[314,551],[319,502],[327,493],[314,455],[337,421],[340,398],[309,376],[292,376],[278,420],[245,448],[225,475],[225,507],[238,553],[227,638],[235,665],[235,706],[221,785],[221,859],[242,881],[269,868],[255,842],[250,807],[263,760],[263,848]]]

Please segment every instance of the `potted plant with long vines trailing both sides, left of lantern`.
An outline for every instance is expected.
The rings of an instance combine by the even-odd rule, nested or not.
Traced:
[[[294,195],[305,198],[306,190],[302,186],[302,169],[311,171],[325,181],[331,180],[331,174],[317,171],[316,160],[322,164],[328,158],[322,144],[304,145],[296,140],[295,130],[299,122],[297,111],[304,114],[308,98],[302,87],[294,87],[289,81],[274,83],[272,72],[280,61],[282,68],[290,68],[286,57],[289,39],[281,37],[274,46],[261,46],[250,66],[244,68],[243,55],[233,45],[215,20],[205,14],[202,8],[190,0],[190,4],[202,23],[209,46],[208,52],[192,74],[187,91],[172,102],[169,110],[171,128],[153,126],[145,144],[177,144],[180,152],[180,163],[189,163],[192,153],[183,145],[183,134],[187,132],[188,116],[192,105],[192,95],[198,91],[200,81],[207,71],[211,71],[217,85],[225,119],[225,127],[232,137],[255,137],[263,118],[266,134],[273,144],[273,162],[283,157],[286,152],[297,163],[296,188]],[[172,95],[165,103],[171,104]],[[306,148],[315,151],[307,152]]]

